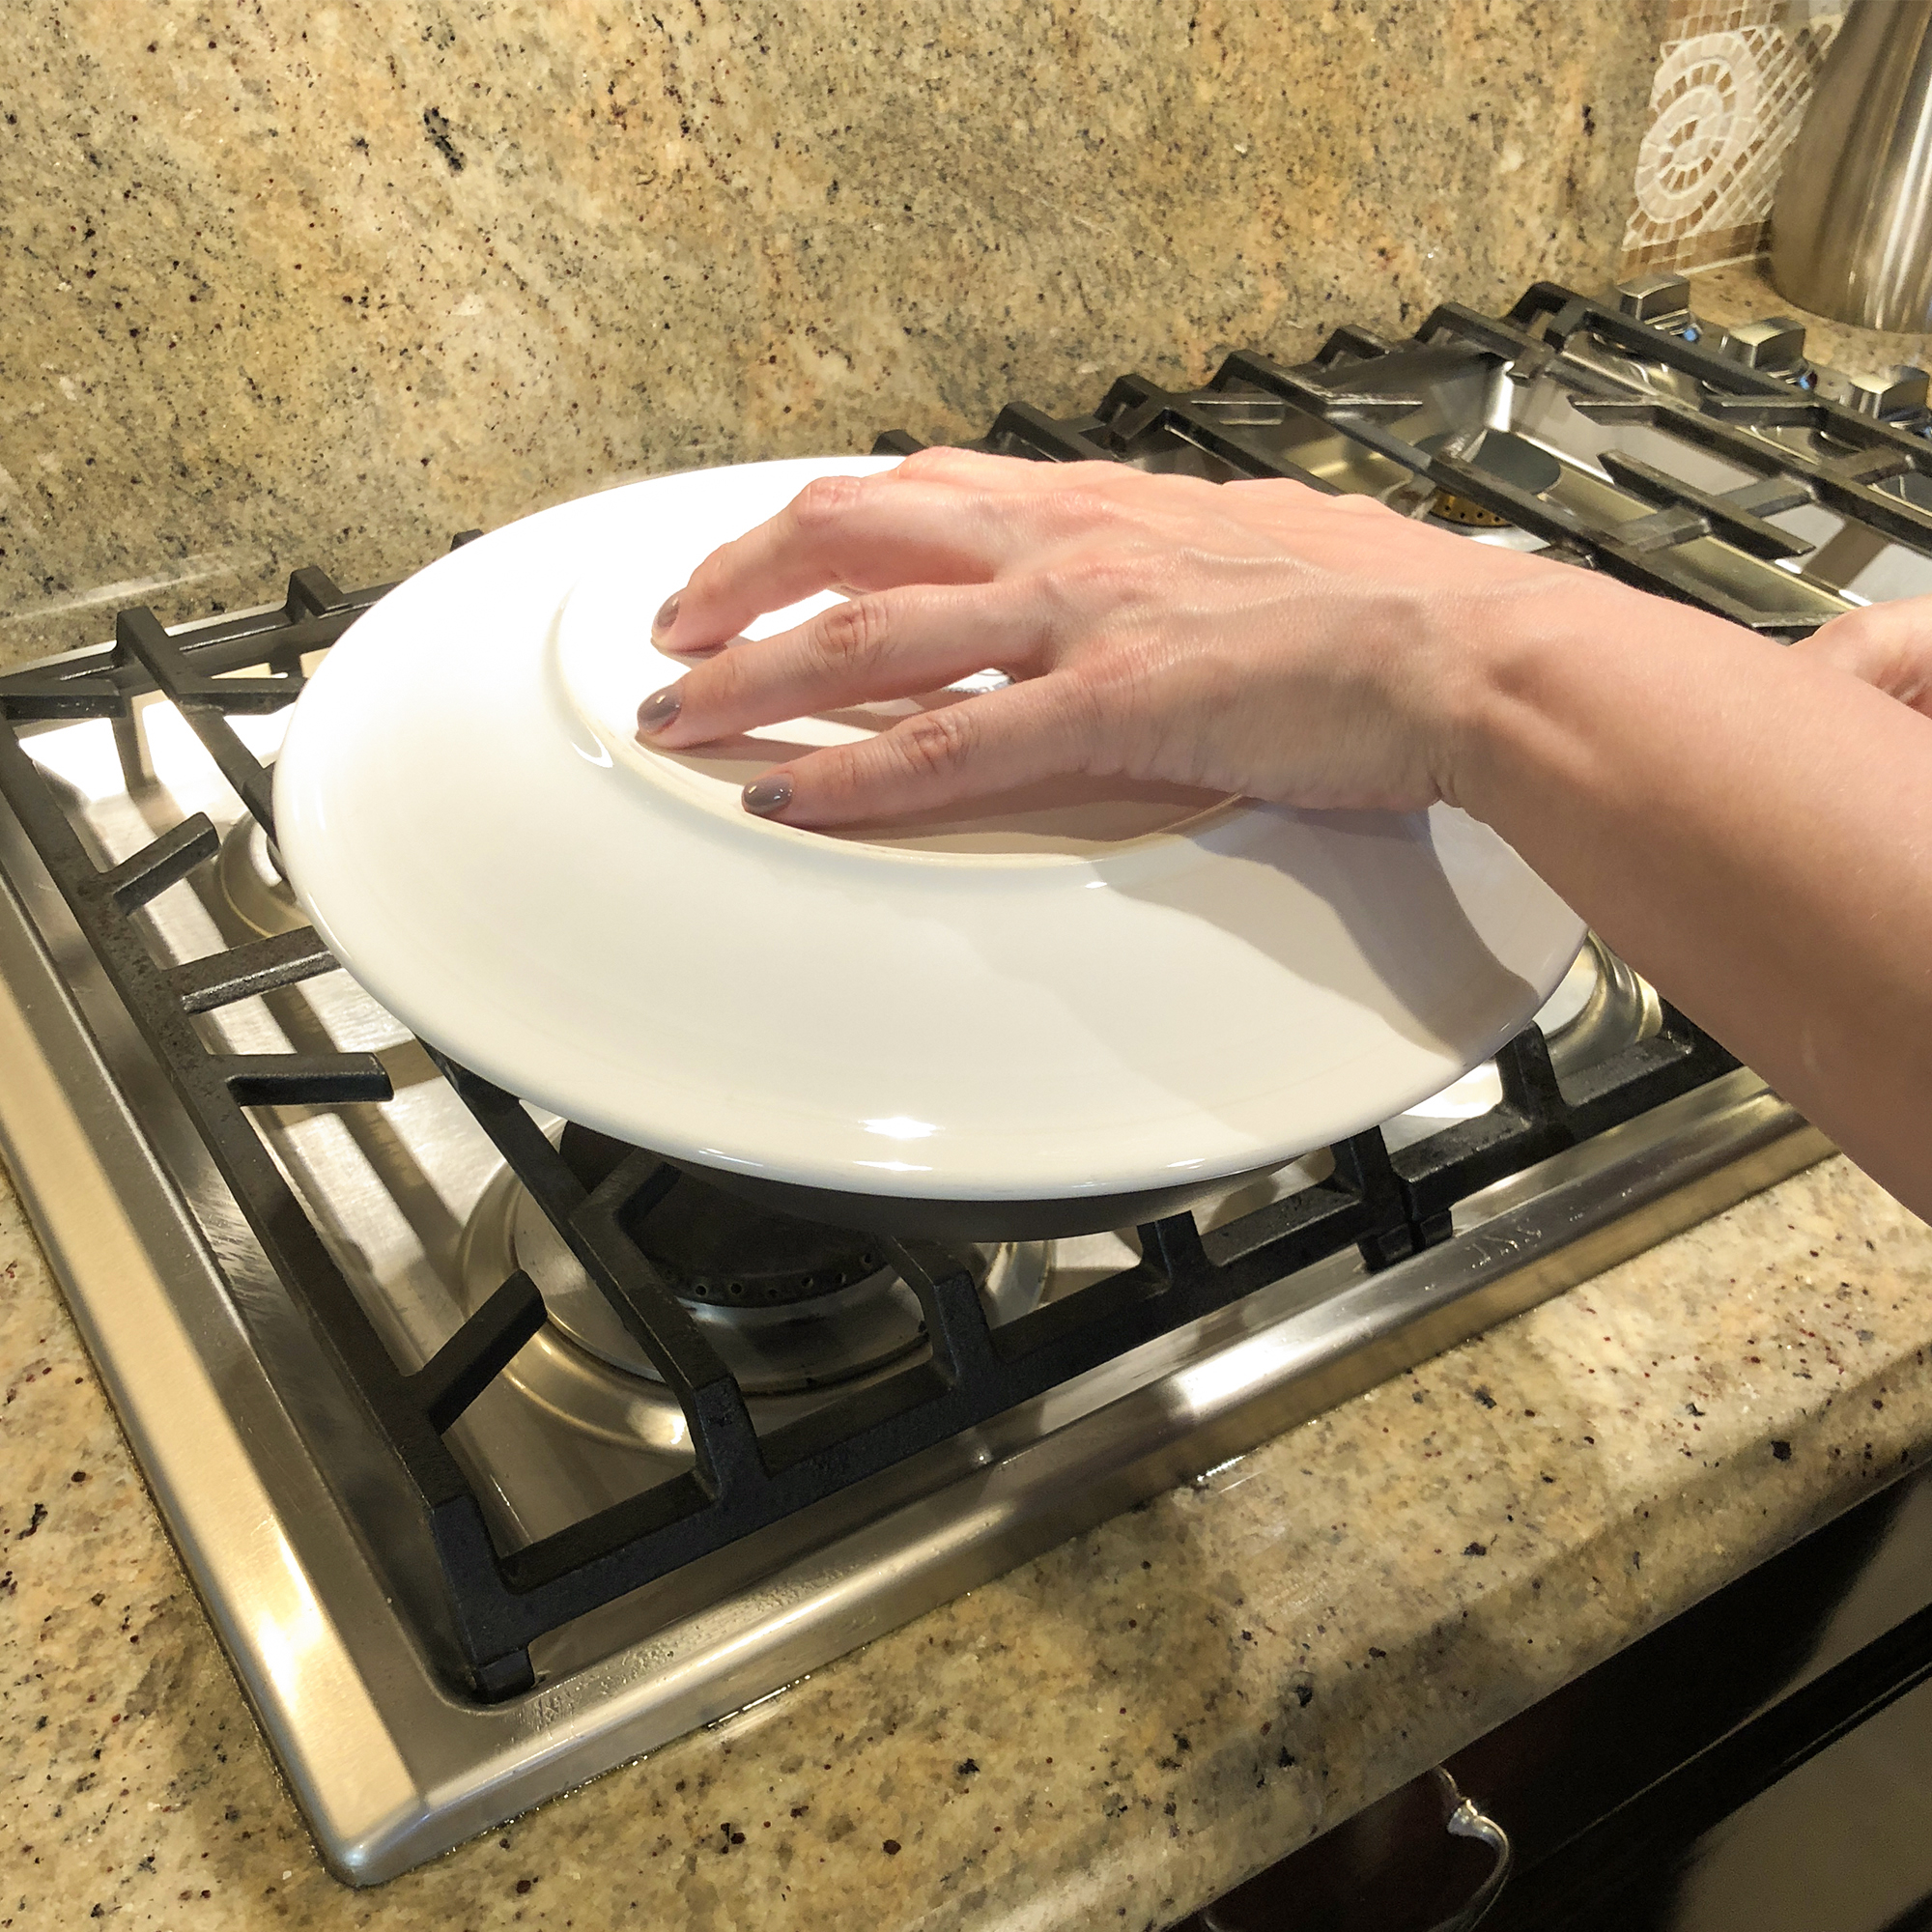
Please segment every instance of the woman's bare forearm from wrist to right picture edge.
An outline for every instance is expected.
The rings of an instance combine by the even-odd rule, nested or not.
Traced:
[[[1445,784],[1631,964],[1932,1211],[1932,719],[1619,585],[1530,585]]]

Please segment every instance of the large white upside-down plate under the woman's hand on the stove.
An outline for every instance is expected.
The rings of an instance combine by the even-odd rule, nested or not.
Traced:
[[[808,479],[881,468],[634,483],[384,597],[317,670],[274,777],[336,958],[585,1126],[912,1200],[1279,1165],[1447,1086],[1548,997],[1580,922],[1447,808],[1144,788],[827,838],[740,810],[775,748],[639,748],[638,699],[678,668],[647,643],[657,605]]]

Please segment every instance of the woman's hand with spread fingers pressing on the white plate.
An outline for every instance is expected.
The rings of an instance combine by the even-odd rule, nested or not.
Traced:
[[[848,601],[721,649],[827,587]],[[705,558],[655,632],[696,663],[639,734],[686,748],[991,667],[1012,684],[779,765],[746,804],[840,825],[1119,773],[1408,810],[1455,792],[1470,653],[1503,607],[1520,628],[1578,591],[1634,597],[1362,497],[923,450]]]

